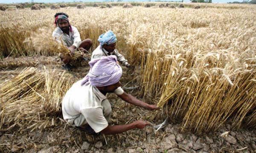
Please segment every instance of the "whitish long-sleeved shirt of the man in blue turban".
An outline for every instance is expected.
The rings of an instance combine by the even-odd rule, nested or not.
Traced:
[[[128,60],[125,59],[125,57],[122,56],[122,54],[120,54],[116,49],[113,52],[109,53],[100,45],[93,51],[91,60],[110,55],[115,55],[118,62],[120,62],[122,65],[126,66],[128,64]]]

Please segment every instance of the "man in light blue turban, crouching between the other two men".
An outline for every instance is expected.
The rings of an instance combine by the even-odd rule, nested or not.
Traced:
[[[128,60],[116,50],[116,35],[111,30],[99,36],[99,46],[93,51],[91,60],[104,56],[115,55],[119,63],[126,67],[131,67]]]

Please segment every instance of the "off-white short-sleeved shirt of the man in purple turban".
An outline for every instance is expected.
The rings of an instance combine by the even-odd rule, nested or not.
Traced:
[[[102,101],[107,99],[98,88],[92,85],[81,86],[81,81],[74,83],[67,91],[62,101],[63,118],[75,119],[81,113],[87,123],[98,133],[108,126],[108,121],[103,116]],[[115,90],[115,94],[123,94],[121,87]]]

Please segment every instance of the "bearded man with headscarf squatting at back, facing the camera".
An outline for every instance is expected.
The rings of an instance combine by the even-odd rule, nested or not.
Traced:
[[[56,13],[54,17],[54,23],[57,28],[55,28],[55,30],[52,32],[52,37],[58,42],[66,45],[70,50],[71,55],[73,55],[77,49],[83,51],[84,53],[88,53],[87,51],[93,44],[92,40],[86,39],[81,41],[77,28],[70,25],[67,14]],[[60,58],[64,62],[62,68],[70,70],[72,68],[70,65],[70,55],[60,54]]]

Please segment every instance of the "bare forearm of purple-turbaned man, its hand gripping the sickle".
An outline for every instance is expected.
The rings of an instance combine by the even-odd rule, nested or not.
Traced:
[[[134,128],[143,129],[147,125],[150,125],[150,123],[145,122],[143,120],[135,121],[128,125],[108,125],[108,127],[103,129],[101,133],[105,135],[118,134]]]

